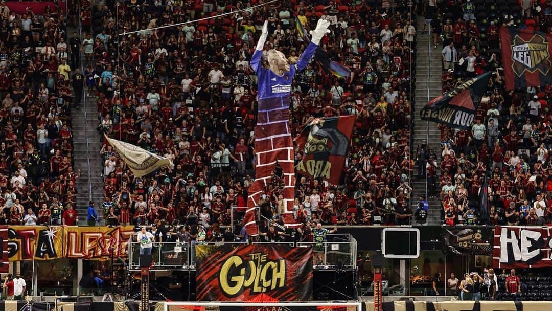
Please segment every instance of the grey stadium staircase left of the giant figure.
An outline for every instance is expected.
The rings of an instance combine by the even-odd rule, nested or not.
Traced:
[[[68,33],[72,33],[70,29]],[[76,29],[79,33],[79,29]],[[82,35],[80,36],[82,38]],[[81,53],[81,73],[84,54]],[[81,170],[81,177],[77,180],[77,213],[78,224],[87,224],[88,203],[94,200],[94,207],[98,214],[96,224],[103,223],[103,212],[100,210],[103,199],[103,161],[99,154],[101,149],[96,126],[98,125],[98,111],[95,97],[90,97],[83,90],[83,98],[79,107],[71,109],[72,135],[73,135],[73,162],[76,170]]]

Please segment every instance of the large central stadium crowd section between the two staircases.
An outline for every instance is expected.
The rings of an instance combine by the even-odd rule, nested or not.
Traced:
[[[351,77],[328,75],[314,61],[296,75],[293,133],[323,116],[355,114],[357,126],[342,186],[298,177],[294,215],[314,225],[410,224],[412,3],[124,4],[83,7],[81,13],[83,23],[94,20],[93,35],[83,40],[84,76],[88,93],[98,99],[98,131],[168,157],[174,168],[137,178],[104,143],[105,202],[98,213],[106,224],[180,224],[196,233],[204,227],[207,239],[216,239],[216,228],[230,224],[230,207],[246,206],[254,178],[256,76],[248,60],[262,24],[268,19],[266,50],[279,49],[293,64],[305,48],[296,20],[308,31],[320,17],[332,21],[322,48],[351,68]],[[127,33],[120,40],[118,29]],[[300,161],[302,150],[295,152]],[[278,168],[273,175],[259,213],[282,224]]]

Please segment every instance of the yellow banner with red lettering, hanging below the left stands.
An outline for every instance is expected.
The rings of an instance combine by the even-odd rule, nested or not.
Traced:
[[[9,226],[9,261],[33,257],[35,260],[126,257],[133,229],[133,226]]]

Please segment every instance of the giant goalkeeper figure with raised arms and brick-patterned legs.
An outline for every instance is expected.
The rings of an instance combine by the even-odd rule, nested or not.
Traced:
[[[255,181],[248,189],[245,226],[247,234],[256,236],[255,207],[264,188],[270,181],[270,175],[276,164],[284,173],[284,223],[287,226],[300,226],[293,218],[293,201],[295,197],[294,150],[289,126],[289,96],[291,81],[295,72],[303,70],[309,64],[320,40],[329,32],[328,20],[320,19],[316,29],[311,31],[312,39],[299,57],[297,64],[290,66],[285,55],[277,50],[268,51],[270,69],[263,68],[261,57],[264,41],[268,36],[268,22],[264,22],[261,38],[251,57],[251,67],[257,73],[259,112],[255,127]]]

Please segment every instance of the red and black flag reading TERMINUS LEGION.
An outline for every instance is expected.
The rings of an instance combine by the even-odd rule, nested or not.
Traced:
[[[506,89],[552,84],[552,36],[531,29],[502,27],[500,49]]]

